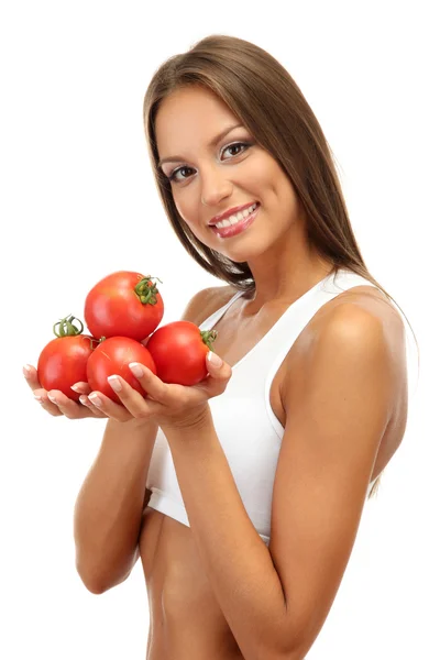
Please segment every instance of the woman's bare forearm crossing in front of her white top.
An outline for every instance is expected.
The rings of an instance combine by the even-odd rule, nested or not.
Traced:
[[[212,422],[164,432],[205,571],[243,656],[282,657],[283,586],[243,506]]]

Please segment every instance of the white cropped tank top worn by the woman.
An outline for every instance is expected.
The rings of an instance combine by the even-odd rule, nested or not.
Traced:
[[[295,300],[268,332],[234,366],[227,389],[211,398],[213,425],[227,457],[243,505],[256,531],[268,544],[275,471],[284,427],[270,404],[273,378],[297,337],[317,311],[342,292],[355,286],[374,286],[350,271],[328,275]],[[375,287],[377,288],[377,287]],[[229,307],[243,295],[235,294],[200,326],[210,330]],[[189,527],[168,442],[158,429],[146,487],[148,506]],[[369,487],[369,494],[373,483]]]

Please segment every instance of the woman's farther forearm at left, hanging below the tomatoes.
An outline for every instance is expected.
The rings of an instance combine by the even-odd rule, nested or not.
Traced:
[[[74,514],[77,570],[90,591],[118,584],[132,569],[156,433],[151,422],[107,422]]]

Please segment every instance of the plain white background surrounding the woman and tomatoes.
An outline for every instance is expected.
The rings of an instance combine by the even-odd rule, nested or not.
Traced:
[[[100,596],[75,570],[73,508],[103,421],[50,417],[21,367],[36,364],[56,320],[82,317],[88,289],[113,271],[163,280],[163,322],[176,320],[196,290],[222,284],[191,262],[169,229],[142,125],[155,69],[211,33],[253,41],[296,79],[337,156],[366,264],[420,346],[404,443],[366,506],[308,658],[440,657],[436,4],[2,6],[1,658],[145,657],[141,564]],[[410,353],[410,369],[415,361]]]

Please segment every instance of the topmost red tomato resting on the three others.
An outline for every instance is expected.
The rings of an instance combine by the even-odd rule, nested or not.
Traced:
[[[84,316],[98,339],[129,337],[142,341],[162,321],[164,302],[150,275],[118,271],[88,293]]]

